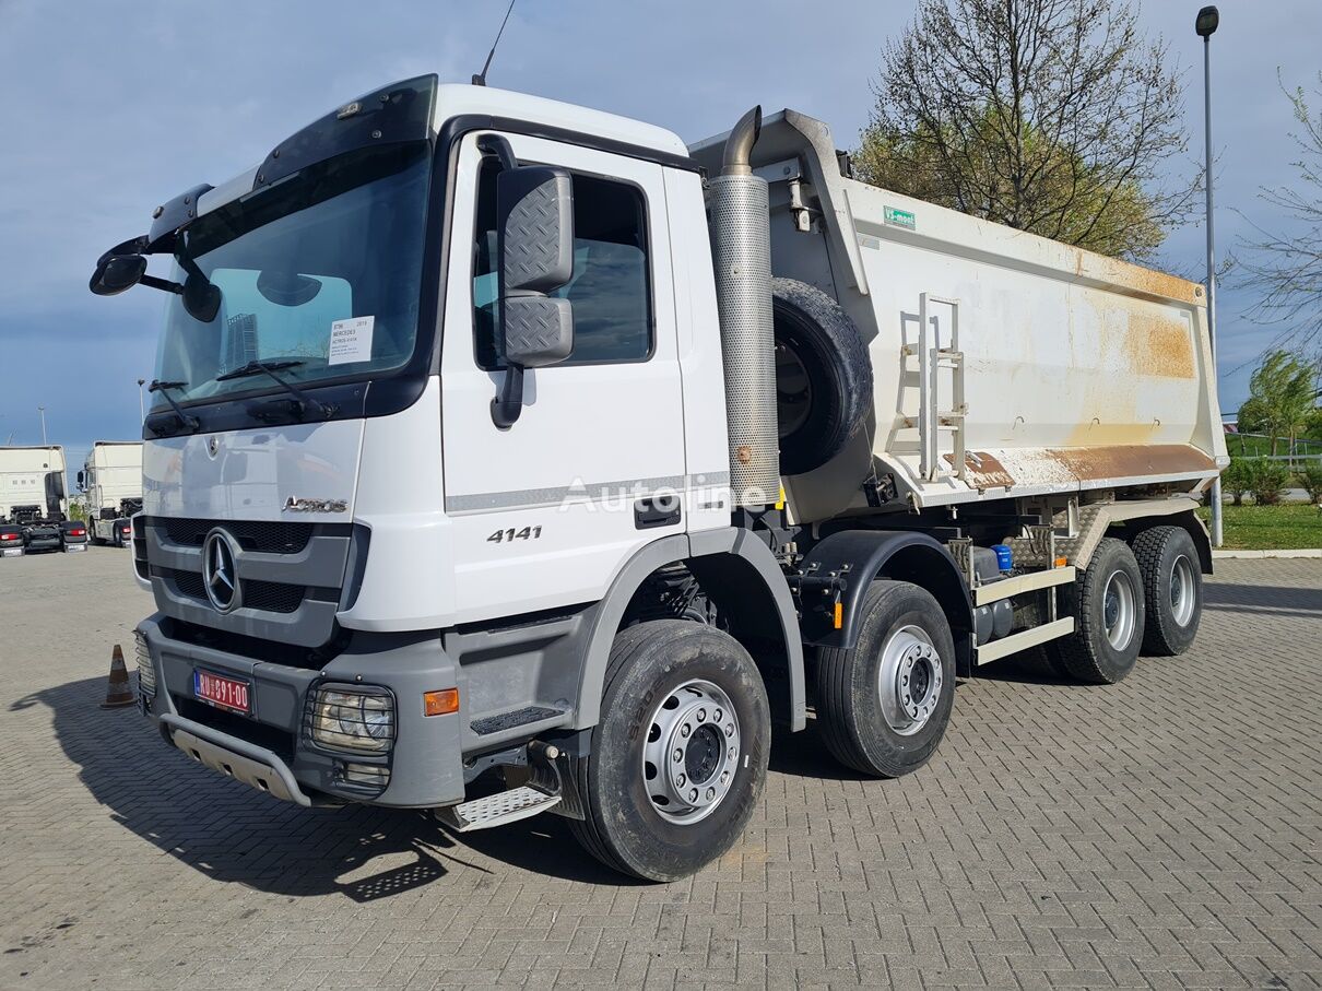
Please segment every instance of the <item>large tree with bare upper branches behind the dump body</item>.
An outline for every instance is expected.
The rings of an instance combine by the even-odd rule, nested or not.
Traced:
[[[1122,0],[920,0],[883,50],[862,178],[1019,230],[1150,258],[1194,206],[1179,67]]]

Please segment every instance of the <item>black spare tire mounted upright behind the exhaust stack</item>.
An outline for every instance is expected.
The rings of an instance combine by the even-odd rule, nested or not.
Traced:
[[[771,311],[780,473],[804,474],[843,451],[862,424],[873,366],[854,321],[821,289],[772,279]]]

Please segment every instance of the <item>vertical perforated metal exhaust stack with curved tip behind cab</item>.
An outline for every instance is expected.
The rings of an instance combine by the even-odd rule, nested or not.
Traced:
[[[767,180],[754,176],[750,164],[760,131],[761,107],[754,107],[726,139],[720,174],[709,182],[730,424],[730,490],[735,506],[748,507],[780,498],[768,193]]]

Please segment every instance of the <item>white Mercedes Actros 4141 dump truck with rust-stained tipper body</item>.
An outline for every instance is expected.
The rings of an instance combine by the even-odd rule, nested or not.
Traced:
[[[854,181],[802,114],[687,147],[408,79],[159,206],[91,279],[137,284],[140,703],[276,798],[553,811],[674,879],[773,723],[907,774],[989,662],[1198,628],[1202,289]]]

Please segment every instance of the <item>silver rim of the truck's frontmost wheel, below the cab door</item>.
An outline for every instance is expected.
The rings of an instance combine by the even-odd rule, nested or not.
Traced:
[[[681,826],[711,815],[739,769],[739,716],[718,686],[695,678],[656,707],[642,747],[652,809]]]

